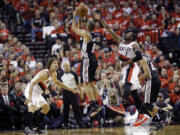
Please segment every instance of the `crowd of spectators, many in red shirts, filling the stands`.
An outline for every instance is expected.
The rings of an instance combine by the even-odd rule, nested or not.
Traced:
[[[31,30],[33,42],[35,34],[42,32],[43,26],[54,26],[55,30],[51,32],[51,35],[56,34],[56,38],[51,54],[57,55],[61,63],[69,61],[72,70],[80,75],[81,39],[71,30],[72,12],[79,1],[5,0],[4,2],[4,7],[13,5],[19,23]],[[180,69],[178,67],[180,63],[176,63],[176,58],[172,53],[164,55],[155,44],[158,42],[157,38],[150,34],[159,32],[159,29],[162,29],[162,35],[164,31],[168,34],[179,34],[180,3],[178,0],[159,0],[158,2],[155,0],[89,0],[84,2],[89,7],[87,18],[91,16],[91,11],[96,11],[101,13],[101,16],[119,35],[123,35],[126,29],[137,33],[142,53],[152,58],[159,71],[162,83],[160,95],[164,102],[173,106],[171,110],[174,114],[173,120],[180,122],[178,121],[180,120]],[[82,19],[81,27],[84,27],[87,18]],[[149,34],[146,35],[147,31],[140,30],[147,30]],[[98,21],[96,21],[95,33],[95,56],[98,59],[96,86],[99,90],[99,104],[103,106],[103,109],[98,116],[92,118],[92,121],[95,121],[94,126],[97,125],[97,121],[104,124],[109,119],[122,124],[120,115],[111,109],[111,107],[122,108],[121,62],[116,55],[118,45]],[[26,126],[27,106],[24,105],[23,92],[27,83],[43,68],[46,68],[46,65],[36,61],[29,48],[11,35],[6,25],[0,22],[0,121],[5,123],[0,123],[1,129],[22,129]],[[63,70],[62,64],[59,69]],[[143,86],[142,82],[142,89],[139,90],[142,101]],[[53,84],[49,89],[50,91],[47,91],[44,96],[51,110],[45,118],[45,123],[49,128],[58,128],[62,124],[63,117],[62,96]],[[89,101],[85,92],[83,99],[79,102],[82,114],[86,116]],[[133,104],[132,98],[129,104]],[[73,114],[70,116],[73,117]],[[84,121],[87,119],[84,117]],[[73,120],[71,122],[74,123]]]

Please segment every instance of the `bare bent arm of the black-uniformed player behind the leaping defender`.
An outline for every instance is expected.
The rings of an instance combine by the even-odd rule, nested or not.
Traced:
[[[147,65],[147,60],[145,58],[140,60],[140,65],[141,65],[144,73],[139,77],[139,80],[141,81],[141,80],[145,80],[145,79],[151,79],[150,70]]]

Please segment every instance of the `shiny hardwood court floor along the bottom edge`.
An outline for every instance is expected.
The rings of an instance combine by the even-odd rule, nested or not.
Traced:
[[[150,131],[151,127],[117,127],[71,130],[48,130],[41,135],[180,135],[180,125],[168,126],[159,131]],[[0,135],[24,135],[22,132],[0,132]]]

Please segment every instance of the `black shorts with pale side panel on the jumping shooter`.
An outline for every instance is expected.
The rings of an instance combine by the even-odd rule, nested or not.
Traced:
[[[96,81],[95,73],[98,67],[98,61],[94,55],[83,58],[81,64],[81,83]]]

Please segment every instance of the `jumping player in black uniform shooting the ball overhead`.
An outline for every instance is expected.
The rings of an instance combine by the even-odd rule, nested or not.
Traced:
[[[77,11],[73,13],[73,21],[72,21],[72,30],[79,36],[83,38],[83,44],[81,48],[82,55],[82,66],[81,66],[81,80],[83,83],[83,87],[87,93],[88,99],[90,100],[90,117],[96,115],[102,107],[100,107],[97,103],[97,94],[98,90],[93,84],[95,79],[95,72],[98,66],[98,61],[94,55],[95,50],[95,35],[94,28],[95,23],[92,19],[89,19],[86,24],[85,29],[80,29],[76,26],[75,18],[77,16]]]

